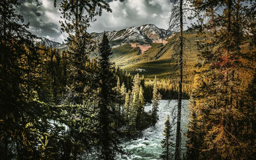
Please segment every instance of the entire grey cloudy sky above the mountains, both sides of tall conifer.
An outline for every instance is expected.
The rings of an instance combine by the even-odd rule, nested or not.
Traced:
[[[60,0],[59,0],[60,1]],[[159,28],[168,28],[170,0],[108,0],[112,13],[103,12],[96,17],[89,32],[120,30],[130,26],[155,24]],[[20,0],[19,12],[30,30],[38,36],[44,36],[56,42],[63,42],[67,35],[61,33],[61,13],[53,6],[53,0]]]

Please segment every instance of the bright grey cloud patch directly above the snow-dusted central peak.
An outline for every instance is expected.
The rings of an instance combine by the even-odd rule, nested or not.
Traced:
[[[125,0],[109,4],[113,12],[103,12],[101,17],[97,17],[90,32],[113,31],[143,24],[156,24],[159,28],[168,29],[170,0]]]

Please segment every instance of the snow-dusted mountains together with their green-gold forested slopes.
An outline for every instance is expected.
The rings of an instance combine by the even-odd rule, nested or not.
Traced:
[[[99,44],[103,33],[91,33],[93,40]],[[110,61],[125,70],[132,76],[136,74],[145,77],[145,84],[152,87],[152,81],[156,76],[159,81],[160,90],[164,99],[173,99],[177,96],[179,82],[179,56],[177,55],[178,34],[171,31],[159,29],[154,24],[125,28],[120,31],[108,31],[109,45],[113,54],[109,56]],[[184,98],[192,91],[195,64],[198,50],[196,41],[201,40],[195,31],[184,31]],[[48,44],[51,41],[46,41]],[[46,44],[45,42],[45,44]],[[54,44],[53,42],[51,42]],[[56,42],[57,43],[57,42]],[[67,49],[65,44],[55,45],[60,51]],[[93,53],[95,58],[99,53]],[[164,84],[162,84],[164,83]],[[174,95],[169,96],[169,90]]]

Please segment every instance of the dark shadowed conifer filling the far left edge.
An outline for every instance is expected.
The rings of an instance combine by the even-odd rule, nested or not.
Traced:
[[[0,2],[0,154],[3,159],[22,159],[35,151],[34,147],[26,146],[26,142],[35,137],[25,131],[25,127],[30,122],[29,115],[35,114],[29,111],[32,109],[29,102],[35,98],[31,68],[35,64],[36,51],[33,49],[33,36],[27,31],[28,25],[15,11],[17,4],[17,1]],[[27,141],[22,140],[22,133]],[[13,145],[19,148],[15,151],[11,148]]]

